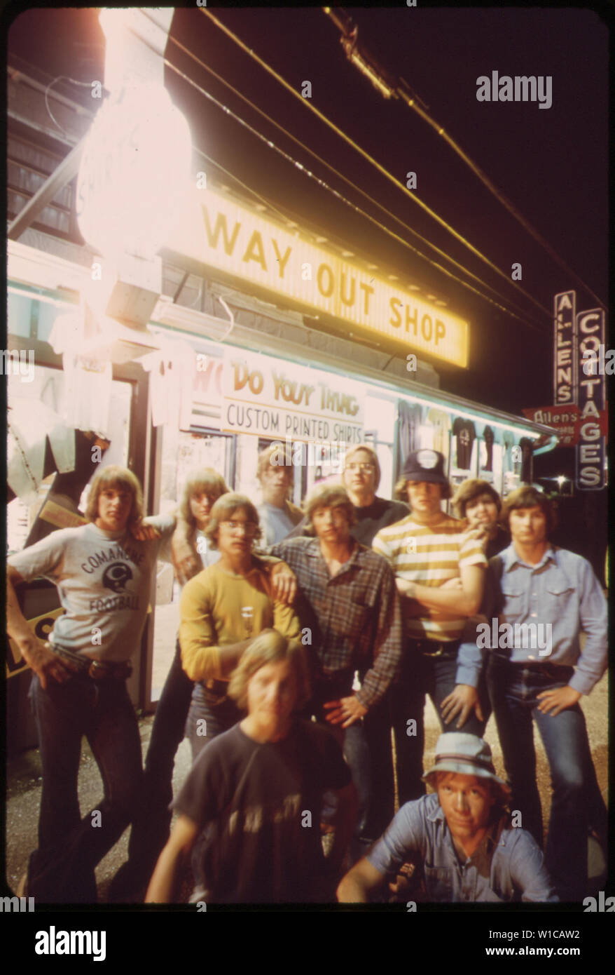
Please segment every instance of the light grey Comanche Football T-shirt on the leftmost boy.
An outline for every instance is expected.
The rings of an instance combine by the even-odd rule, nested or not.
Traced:
[[[161,530],[160,538],[137,541],[127,529],[103,531],[90,524],[53,531],[9,557],[26,582],[42,575],[57,586],[65,612],[55,620],[51,643],[101,660],[132,656],[150,604],[156,561],[170,561],[175,528],[172,516],[147,521]]]

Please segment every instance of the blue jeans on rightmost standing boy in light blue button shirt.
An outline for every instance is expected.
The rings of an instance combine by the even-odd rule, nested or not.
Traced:
[[[542,846],[542,810],[536,784],[532,722],[536,722],[551,769],[553,799],[545,864],[562,901],[579,901],[587,886],[587,834],[590,800],[596,802],[596,775],[585,718],[578,704],[555,717],[538,710],[544,690],[564,687],[572,667],[511,664],[492,653],[488,688],[506,773],[513,790],[511,808]]]

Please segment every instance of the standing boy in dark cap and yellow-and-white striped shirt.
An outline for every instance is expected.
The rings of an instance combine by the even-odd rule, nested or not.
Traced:
[[[442,453],[409,454],[396,493],[408,498],[412,513],[382,528],[373,547],[391,565],[403,597],[407,647],[392,702],[402,803],[424,791],[425,694],[443,730],[457,715],[456,726],[465,732],[481,736],[485,728],[477,692],[480,651],[471,661],[457,653],[467,617],[483,598],[487,559],[481,542],[464,534],[465,524],[442,511],[441,502],[451,496]]]

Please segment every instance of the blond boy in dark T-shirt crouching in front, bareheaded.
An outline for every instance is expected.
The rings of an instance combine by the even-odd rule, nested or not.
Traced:
[[[293,714],[308,694],[303,647],[263,631],[229,684],[247,717],[214,738],[193,765],[146,901],[172,901],[181,861],[191,852],[198,900],[333,900],[352,831],[353,787],[330,733]],[[325,789],[339,792],[326,861],[318,829]]]

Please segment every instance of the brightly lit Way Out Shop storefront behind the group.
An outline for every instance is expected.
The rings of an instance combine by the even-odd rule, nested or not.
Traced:
[[[208,192],[206,205],[192,199],[184,233],[178,221],[163,251],[163,291],[174,299],[163,295],[154,309],[151,348],[114,364],[104,394],[109,420],[99,432],[111,447],[103,463],[134,471],[149,512],[173,510],[188,473],[203,466],[258,500],[257,456],[271,442],[292,466],[296,503],[314,483],[336,477],[344,451],[361,442],[378,452],[384,497],[416,448],[443,452],[453,485],[481,477],[505,494],[531,482],[532,451],[553,448],[557,435],[438,388],[438,361],[464,368],[469,355],[469,325],[445,302],[429,303],[376,264],[370,271],[365,261],[325,250],[312,230],[289,232],[263,208],[254,213],[228,193]],[[57,316],[83,304],[92,254],[81,249],[78,263],[67,259],[74,245],[62,245],[59,256],[41,250],[46,242],[60,250],[38,232],[10,242],[10,346],[33,349],[37,370],[32,383],[12,376],[9,392],[57,411],[67,377],[50,344],[52,328]],[[85,420],[73,413],[71,422]],[[90,416],[86,425],[93,422]],[[19,502],[13,508],[15,548],[19,520],[28,516]],[[160,695],[177,627],[178,591],[163,564],[152,605],[130,682],[135,704],[146,710]],[[17,673],[15,682],[24,681]],[[15,686],[23,715],[23,686],[19,693]]]

